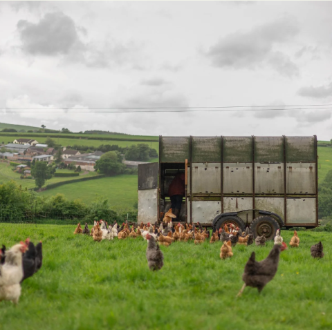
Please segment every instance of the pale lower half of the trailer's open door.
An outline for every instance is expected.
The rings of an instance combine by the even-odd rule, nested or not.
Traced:
[[[138,191],[138,223],[158,220],[158,189]]]

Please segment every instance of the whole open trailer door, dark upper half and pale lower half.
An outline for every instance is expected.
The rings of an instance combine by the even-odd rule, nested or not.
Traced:
[[[158,220],[158,163],[138,165],[138,223]]]

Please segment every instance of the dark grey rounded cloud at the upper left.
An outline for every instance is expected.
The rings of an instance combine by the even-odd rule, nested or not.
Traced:
[[[17,28],[23,50],[32,55],[68,54],[81,43],[73,19],[62,12],[48,13],[39,23],[20,20]]]

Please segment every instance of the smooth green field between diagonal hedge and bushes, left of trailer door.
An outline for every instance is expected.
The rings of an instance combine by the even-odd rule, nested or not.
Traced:
[[[102,179],[87,182],[66,184],[48,191],[43,191],[44,196],[52,196],[63,193],[68,199],[81,199],[89,204],[98,196],[109,199],[113,209],[132,208],[137,202],[137,175],[118,175],[116,177],[104,177]]]

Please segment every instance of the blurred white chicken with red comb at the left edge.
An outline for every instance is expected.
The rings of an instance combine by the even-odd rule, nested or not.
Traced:
[[[5,253],[4,263],[0,266],[0,301],[10,300],[14,304],[19,302],[19,296],[21,295],[20,282],[24,276],[23,253],[28,248],[26,245],[28,241],[12,246]]]

